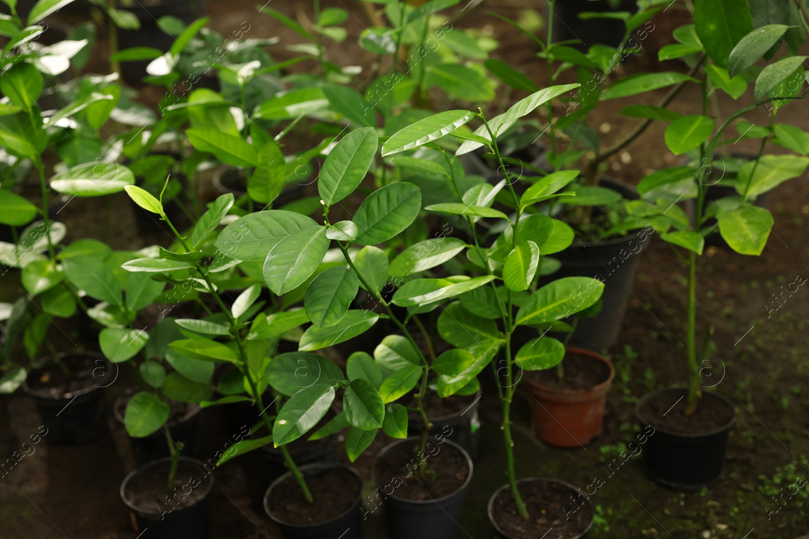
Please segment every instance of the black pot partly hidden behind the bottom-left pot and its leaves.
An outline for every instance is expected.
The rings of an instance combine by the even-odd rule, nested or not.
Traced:
[[[115,406],[112,411],[115,414],[115,419],[121,425],[124,424],[124,416],[121,414],[122,410],[126,410],[126,402],[129,401],[130,395],[134,390],[127,390],[121,397],[116,398]],[[200,412],[202,409],[199,406],[193,405],[183,418],[178,421],[167,423],[163,429],[168,429],[172,435],[172,440],[175,442],[182,442],[184,455],[197,455],[197,440],[200,424]],[[132,448],[135,462],[138,465],[146,464],[146,462],[156,461],[164,457],[170,457],[168,453],[168,444],[166,435],[163,429],[151,433],[144,438],[133,438],[129,436],[129,446]]]

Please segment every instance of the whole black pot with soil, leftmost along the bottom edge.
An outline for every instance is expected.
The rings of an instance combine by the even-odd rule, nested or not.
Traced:
[[[171,462],[170,458],[151,461],[121,483],[121,499],[129,507],[133,528],[144,539],[207,539],[209,495],[214,486],[212,470],[201,461],[180,457],[174,488],[168,491]]]

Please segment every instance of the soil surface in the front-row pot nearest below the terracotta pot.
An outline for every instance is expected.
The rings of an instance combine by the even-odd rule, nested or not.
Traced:
[[[512,539],[576,537],[587,528],[593,516],[587,503],[579,502],[582,504],[576,510],[577,506],[570,499],[570,495],[575,495],[575,492],[557,482],[523,482],[519,484],[519,494],[523,496],[523,502],[528,510],[527,521],[517,513],[509,489],[504,489],[498,494],[492,507],[494,520]],[[570,520],[565,520],[565,514]],[[549,528],[552,528],[550,533]]]

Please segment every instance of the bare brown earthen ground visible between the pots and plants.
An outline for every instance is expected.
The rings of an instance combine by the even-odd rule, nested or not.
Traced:
[[[541,2],[503,0],[476,4],[455,23],[460,27],[482,27],[501,41],[494,57],[523,69],[540,86],[544,66],[519,32],[486,15],[486,9],[517,18],[524,7]],[[356,47],[356,39],[366,18],[355,2],[323,2],[325,6],[345,6],[349,18],[349,38],[329,47],[328,54],[341,65],[370,65]],[[296,15],[308,9],[308,2],[273,2],[276,9]],[[300,7],[296,7],[300,6]],[[294,32],[277,27],[269,18],[256,15],[253,2],[209,2],[207,9],[215,29],[229,32],[249,20],[256,37],[280,36],[282,43],[298,42]],[[684,23],[676,11],[654,19],[656,27],[643,41],[644,51],[619,69],[628,72],[651,69],[657,63],[657,49],[671,43],[671,30]],[[311,13],[308,15],[311,19]],[[278,59],[294,53],[277,48]],[[103,69],[101,66],[99,69]],[[301,68],[303,69],[303,68]],[[682,70],[676,62],[663,62],[657,69]],[[696,94],[684,91],[676,110],[700,113]],[[646,103],[656,103],[663,92],[644,94]],[[522,97],[521,95],[518,97]],[[146,103],[155,103],[159,93],[142,91]],[[451,107],[448,99],[435,96],[434,107]],[[743,99],[742,99],[743,100]],[[599,107],[591,124],[604,137],[617,140],[629,133],[636,120],[619,116],[622,107],[640,104],[635,98],[616,99],[612,107]],[[718,99],[718,111],[726,116],[748,103]],[[603,110],[604,109],[604,110]],[[791,112],[790,112],[791,111]],[[800,114],[797,114],[800,112]],[[782,114],[790,123],[809,128],[809,114],[803,103],[796,103]],[[767,111],[746,116],[766,120]],[[657,168],[676,163],[663,145],[664,124],[653,124],[643,137],[609,161],[609,174],[628,183],[637,183]],[[305,145],[305,141],[301,141]],[[732,146],[751,150],[745,141]],[[104,215],[108,225],[104,223]],[[722,478],[709,489],[691,494],[655,485],[643,473],[642,453],[621,465],[613,459],[633,440],[637,432],[633,409],[637,398],[650,390],[680,385],[685,379],[684,326],[686,275],[676,255],[663,242],[650,242],[633,256],[640,256],[632,297],[623,329],[616,345],[608,351],[616,366],[616,378],[609,394],[604,432],[586,447],[552,448],[542,444],[528,426],[527,394],[520,388],[515,397],[514,429],[517,475],[519,478],[560,478],[587,491],[593,491],[596,521],[590,537],[766,537],[794,539],[806,532],[809,520],[809,487],[803,487],[780,505],[773,495],[803,482],[809,474],[809,291],[798,276],[809,273],[809,185],[796,179],[778,187],[770,198],[776,225],[761,257],[735,255],[722,248],[709,247],[701,260],[698,288],[697,324],[704,331],[714,326],[716,349],[703,365],[706,391],[716,391],[735,405],[736,423],[728,441],[727,461]],[[87,215],[97,216],[87,219]],[[165,244],[167,235],[141,236],[133,226],[133,211],[123,196],[74,200],[60,213],[68,228],[68,240],[107,239],[117,249],[133,249],[155,242]],[[106,230],[106,232],[104,232]],[[2,301],[17,297],[15,276],[7,274],[0,283]],[[785,292],[788,288],[797,292]],[[776,301],[778,297],[779,301]],[[79,328],[80,329],[80,328]],[[65,344],[81,343],[81,333],[65,328]],[[362,339],[362,338],[361,338]],[[84,339],[91,343],[92,339]],[[61,344],[61,343],[60,343]],[[127,373],[108,389],[108,404],[128,387]],[[486,503],[505,481],[504,448],[499,427],[499,402],[493,381],[485,380],[481,400],[481,449],[467,497],[459,537],[493,537],[486,517]],[[200,457],[207,460],[222,450],[231,434],[224,427],[221,411],[203,412]],[[49,445],[47,436],[31,444],[40,425],[32,401],[23,394],[0,399],[0,457],[26,453],[10,471],[0,477],[0,538],[94,537],[123,539],[136,537],[129,516],[121,503],[121,479],[133,469],[133,459],[125,432],[108,415],[110,433],[92,444],[79,447]],[[28,444],[23,446],[23,442]],[[381,437],[354,465],[371,489],[372,459],[388,440]],[[256,452],[258,453],[258,452]],[[211,495],[213,537],[280,537],[265,516],[260,498],[268,483],[260,478],[256,453],[237,459],[215,473]],[[345,457],[344,457],[345,458]],[[368,504],[366,537],[384,537],[380,515]]]

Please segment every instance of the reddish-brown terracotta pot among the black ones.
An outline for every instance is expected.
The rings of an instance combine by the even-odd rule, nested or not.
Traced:
[[[566,354],[604,361],[609,377],[590,390],[557,390],[526,377],[531,405],[531,423],[536,436],[546,444],[563,448],[583,447],[601,434],[604,404],[615,377],[615,368],[604,356],[583,348],[565,348]]]

